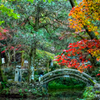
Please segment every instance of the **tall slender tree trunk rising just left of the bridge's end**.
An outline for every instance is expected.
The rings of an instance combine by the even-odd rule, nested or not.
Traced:
[[[39,29],[39,14],[40,14],[40,7],[39,7],[39,3],[37,4],[36,7],[36,16],[35,16],[35,28],[34,30],[36,32],[38,32]],[[32,71],[31,71],[31,67],[33,66],[34,68],[35,66],[35,58],[36,58],[36,48],[37,48],[37,40],[36,40],[36,34],[33,34],[33,40],[32,40],[32,45],[31,45],[31,52],[30,52],[30,62],[29,62],[29,82],[31,75],[32,75]]]

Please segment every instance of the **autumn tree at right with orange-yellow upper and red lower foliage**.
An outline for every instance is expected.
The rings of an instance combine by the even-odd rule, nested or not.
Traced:
[[[65,64],[68,67],[75,67],[80,71],[88,67],[96,66],[96,58],[99,58],[99,1],[83,0],[79,5],[72,8],[69,13],[69,27],[75,29],[76,36],[81,36],[80,41],[71,43],[67,53],[62,53],[56,59],[59,64]],[[95,15],[94,15],[95,14]],[[97,23],[98,22],[98,23]],[[84,31],[84,32],[82,32]],[[87,38],[85,38],[86,36]],[[88,40],[89,39],[89,40]],[[90,55],[90,59],[87,56]],[[85,64],[90,60],[91,64]]]

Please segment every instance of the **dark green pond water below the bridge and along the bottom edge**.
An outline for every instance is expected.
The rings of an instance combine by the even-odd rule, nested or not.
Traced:
[[[67,89],[67,90],[50,90],[48,97],[38,97],[36,99],[32,98],[0,98],[0,100],[76,100],[77,98],[82,98],[82,93],[84,89]]]

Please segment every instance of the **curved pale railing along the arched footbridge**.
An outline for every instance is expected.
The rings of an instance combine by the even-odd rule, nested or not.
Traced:
[[[84,73],[84,72],[80,72],[76,69],[57,69],[54,70],[52,72],[49,72],[47,74],[45,74],[44,76],[39,78],[40,82],[46,82],[46,81],[50,81],[50,79],[52,80],[53,78],[58,78],[58,77],[64,77],[64,75],[69,75],[70,77],[77,77],[80,80],[89,82],[92,81],[93,78],[91,76],[89,76],[88,74]]]

